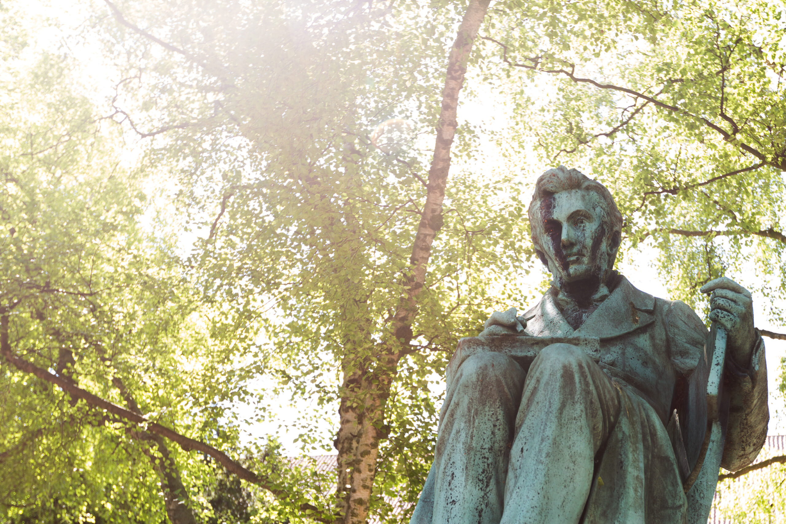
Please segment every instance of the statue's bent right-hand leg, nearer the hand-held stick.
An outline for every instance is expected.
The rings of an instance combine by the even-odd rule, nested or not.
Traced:
[[[619,405],[612,379],[583,350],[562,343],[542,350],[516,416],[502,524],[581,519]]]

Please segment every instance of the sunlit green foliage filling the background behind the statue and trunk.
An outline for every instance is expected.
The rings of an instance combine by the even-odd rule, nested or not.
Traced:
[[[446,46],[463,9],[95,3],[83,31],[114,71],[107,110],[65,88],[75,80],[60,57],[9,81],[3,103],[2,301],[18,302],[14,350],[119,404],[112,380],[122,377],[156,420],[283,475],[260,459],[261,446],[240,451],[227,422],[233,404],[280,391],[314,399],[323,413],[368,402],[342,377],[373,376],[383,367],[376,356],[401,338],[391,319],[421,220]],[[756,291],[784,297],[783,13],[707,0],[491,6],[465,93],[483,104],[490,90],[510,125],[459,127],[412,342],[377,428],[376,515],[402,518],[385,495],[417,500],[439,405],[430,388],[457,339],[475,334],[490,310],[538,292],[522,278],[537,263],[523,195],[543,164],[569,163],[612,189],[625,249],[655,247],[674,298],[703,306],[696,289],[722,273],[753,287],[751,268],[765,277]],[[393,126],[380,124],[391,121],[403,122],[403,136],[381,148]],[[118,144],[134,136],[143,154],[123,169]],[[489,138],[506,155],[493,171],[473,163]],[[174,237],[141,225],[150,213],[141,189],[155,178],[177,191],[172,209],[196,236],[185,260]],[[777,308],[772,320],[784,321]],[[0,449],[31,442],[4,459],[16,468],[9,478],[27,482],[0,486],[6,500],[47,508],[57,491],[90,501],[58,515],[116,519],[132,505],[160,515],[156,473],[125,425],[3,372],[9,431]],[[260,376],[279,386],[248,391]],[[303,431],[301,440],[312,450],[325,435]],[[73,453],[45,452],[56,445]],[[211,464],[171,452],[208,518]],[[42,473],[31,476],[29,464]],[[54,473],[72,470],[78,479]],[[278,480],[309,486],[310,500],[329,508],[324,478]],[[254,493],[266,508],[256,519],[303,516],[292,501]]]

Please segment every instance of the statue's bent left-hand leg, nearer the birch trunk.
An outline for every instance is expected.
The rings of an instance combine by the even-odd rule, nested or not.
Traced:
[[[498,353],[473,355],[458,368],[439,421],[432,524],[498,524],[525,377]]]

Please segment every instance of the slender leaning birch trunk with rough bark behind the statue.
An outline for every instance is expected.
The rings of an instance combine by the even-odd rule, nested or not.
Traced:
[[[380,345],[376,362],[344,362],[342,398],[339,408],[340,427],[336,438],[338,449],[338,493],[340,522],[365,524],[369,516],[376,458],[380,438],[384,438],[384,409],[391,383],[401,357],[409,351],[412,323],[417,316],[418,295],[423,288],[435,236],[443,225],[443,200],[450,170],[450,146],[456,134],[458,93],[464,85],[467,63],[480,24],[486,16],[490,0],[471,0],[461,20],[453,48],[450,49],[442,108],[436,129],[434,158],[428,172],[426,201],[417,226],[402,296],[393,317],[391,331],[396,342]]]

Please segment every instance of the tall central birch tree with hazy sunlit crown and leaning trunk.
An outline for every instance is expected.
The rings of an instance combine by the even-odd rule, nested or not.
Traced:
[[[385,151],[369,135],[392,116],[418,129],[434,126],[433,86],[442,74],[428,60],[443,60],[443,44],[418,31],[452,32],[450,11],[429,20],[417,10],[341,3],[252,8],[226,2],[180,6],[182,11],[108,5],[119,30],[130,33],[116,37],[124,38],[123,57],[138,49],[130,64],[136,72],[126,76],[145,79],[134,83],[134,91],[176,90],[162,103],[171,104],[169,120],[143,126],[144,114],[128,116],[132,111],[123,108],[119,115],[142,136],[156,133],[152,125],[167,130],[157,161],[168,156],[185,163],[179,176],[191,191],[190,208],[219,203],[205,222],[208,239],[194,262],[205,293],[267,325],[277,360],[296,370],[287,379],[294,378],[302,394],[310,381],[318,384],[321,401],[340,404],[343,519],[365,522],[369,498],[380,500],[386,489],[400,493],[398,486],[410,477],[416,480],[407,499],[416,499],[426,460],[396,459],[382,489],[372,493],[379,442],[388,438],[392,449],[402,449],[406,438],[410,448],[428,450],[431,438],[415,443],[422,437],[411,413],[413,407],[424,412],[418,422],[433,427],[433,404],[424,394],[428,376],[434,368],[441,374],[446,364],[446,354],[438,352],[452,350],[457,336],[485,314],[477,303],[492,277],[483,271],[484,259],[509,251],[512,257],[503,259],[511,269],[526,270],[526,259],[501,249],[498,238],[500,229],[520,227],[521,207],[509,217],[484,209],[494,196],[490,184],[476,185],[472,196],[446,188],[450,128],[456,126],[450,108],[455,112],[461,64],[472,44],[462,31],[471,36],[476,29],[459,29],[439,127],[445,137],[426,181],[421,172],[428,153]],[[472,2],[465,20],[478,27],[484,11]],[[434,13],[444,16],[429,9]],[[262,20],[265,31],[259,30]],[[201,35],[190,30],[196,26],[203,27]],[[433,58],[424,56],[424,44]],[[162,48],[174,54],[141,71],[139,59]],[[171,60],[202,76],[196,84],[178,82]],[[186,97],[188,108],[178,102]],[[226,145],[228,137],[233,141]],[[442,212],[445,195],[449,214]],[[432,248],[438,230],[446,233]],[[257,303],[263,299],[274,301],[278,318],[261,317]],[[425,321],[417,321],[418,311]],[[314,361],[314,355],[329,357]],[[411,374],[400,374],[399,363]],[[320,384],[338,374],[336,389]],[[388,409],[391,395],[399,398]]]

